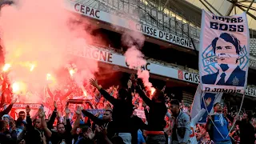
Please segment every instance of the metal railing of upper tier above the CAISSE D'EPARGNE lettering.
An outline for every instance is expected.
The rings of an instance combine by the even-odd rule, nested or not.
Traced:
[[[140,0],[74,0],[86,6],[142,22],[158,30],[178,35],[182,38],[193,38],[196,50],[199,46],[200,28],[179,17],[170,10],[158,10]],[[256,30],[250,30],[250,38],[256,38]],[[251,50],[256,46],[250,45]],[[254,54],[255,55],[255,54]]]

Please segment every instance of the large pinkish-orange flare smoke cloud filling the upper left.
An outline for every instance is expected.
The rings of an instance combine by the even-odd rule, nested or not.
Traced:
[[[66,11],[62,2],[20,0],[12,6],[2,7],[1,37],[5,62],[11,66],[11,82],[24,82],[27,90],[39,92],[47,83],[46,74],[52,74],[66,63],[76,60],[70,60],[66,54],[68,46],[78,46],[77,49],[82,49],[86,43],[92,42],[90,34],[84,30],[84,25],[69,23],[70,18],[75,19],[76,16]],[[75,39],[81,36],[83,43],[74,43],[77,42]],[[8,70],[7,67],[4,70]],[[85,69],[82,74],[86,74],[87,78],[93,77],[94,72],[98,70],[98,62],[90,61],[77,68]],[[78,76],[79,81],[84,77]],[[33,101],[41,102],[42,98],[33,98]]]

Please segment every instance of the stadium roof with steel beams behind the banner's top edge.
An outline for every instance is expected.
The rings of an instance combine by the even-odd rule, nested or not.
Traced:
[[[216,15],[228,16],[247,11],[250,29],[256,30],[255,0],[142,0],[158,10],[170,10],[186,19],[194,26],[200,27],[202,9]]]

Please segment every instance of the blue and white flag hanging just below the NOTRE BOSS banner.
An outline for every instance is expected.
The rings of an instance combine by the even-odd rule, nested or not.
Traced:
[[[206,113],[202,115],[202,118],[199,120],[198,123],[206,123],[208,114],[214,114],[214,104],[217,102],[221,102],[222,95],[223,93],[206,93],[200,89],[200,86],[198,86],[198,89],[194,94],[194,101],[190,114],[191,119],[194,118],[200,110],[205,109]]]

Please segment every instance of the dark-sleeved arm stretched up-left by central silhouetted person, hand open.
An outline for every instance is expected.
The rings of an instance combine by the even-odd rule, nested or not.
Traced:
[[[103,95],[103,97],[106,98],[106,100],[108,100],[112,105],[118,102],[118,99],[115,99],[109,93],[107,93],[106,90],[103,90],[101,86],[98,86],[98,82],[96,80],[90,79],[90,84],[96,87],[99,90],[99,92]]]

